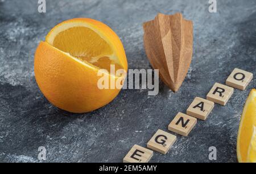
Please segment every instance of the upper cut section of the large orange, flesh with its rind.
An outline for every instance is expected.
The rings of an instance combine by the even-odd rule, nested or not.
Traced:
[[[127,69],[125,50],[111,28],[97,20],[77,18],[55,26],[46,36],[47,43],[82,61],[99,66],[101,58],[118,68]],[[110,69],[110,64],[99,66]],[[117,69],[116,69],[117,70]]]

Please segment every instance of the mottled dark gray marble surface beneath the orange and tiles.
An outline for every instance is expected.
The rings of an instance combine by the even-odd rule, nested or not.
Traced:
[[[146,146],[156,130],[167,130],[177,112],[196,97],[206,97],[215,82],[225,83],[235,67],[256,75],[256,1],[46,1],[39,14],[36,0],[0,0],[0,162],[122,162],[134,145]],[[158,12],[181,12],[194,24],[194,53],[180,90],[159,82],[159,94],[122,90],[106,107],[73,114],[51,105],[34,75],[36,46],[48,31],[66,19],[86,17],[112,27],[125,46],[129,69],[150,69],[143,49],[142,23]],[[177,135],[167,155],[154,153],[150,162],[213,162],[208,148],[217,148],[214,162],[237,162],[236,140],[245,91],[235,90],[228,104],[216,104],[207,121],[198,121],[188,137]]]

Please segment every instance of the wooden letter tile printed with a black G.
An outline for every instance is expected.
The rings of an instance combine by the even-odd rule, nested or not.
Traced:
[[[148,141],[147,148],[166,154],[176,141],[176,136],[158,129],[155,135]]]

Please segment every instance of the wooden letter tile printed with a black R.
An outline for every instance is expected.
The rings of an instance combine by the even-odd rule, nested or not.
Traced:
[[[207,100],[221,105],[226,105],[233,92],[234,88],[225,86],[224,84],[215,83],[207,94]]]

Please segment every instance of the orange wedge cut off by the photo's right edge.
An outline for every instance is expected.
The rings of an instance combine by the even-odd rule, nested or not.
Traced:
[[[251,90],[240,122],[237,137],[237,158],[240,163],[256,162],[256,90]]]

